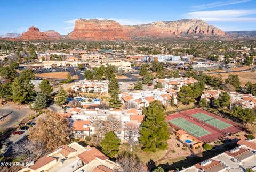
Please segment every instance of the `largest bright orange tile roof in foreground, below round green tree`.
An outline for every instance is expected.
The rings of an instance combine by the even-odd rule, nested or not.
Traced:
[[[103,153],[101,153],[98,149],[92,147],[91,150],[84,151],[81,154],[78,154],[78,157],[81,158],[85,164],[89,164],[91,161],[93,161],[96,158],[99,158],[101,160],[108,159]]]

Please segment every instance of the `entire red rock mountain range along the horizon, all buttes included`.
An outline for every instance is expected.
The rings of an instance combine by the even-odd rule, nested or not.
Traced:
[[[182,19],[177,21],[157,21],[140,25],[121,25],[114,20],[78,19],[75,27],[67,36],[62,37],[58,32],[49,30],[39,31],[30,27],[19,37],[12,40],[88,40],[88,41],[116,41],[180,38],[186,36],[218,36],[227,34],[219,28],[209,25],[200,19]]]

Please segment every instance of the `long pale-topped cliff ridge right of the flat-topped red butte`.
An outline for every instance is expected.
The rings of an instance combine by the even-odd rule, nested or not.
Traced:
[[[149,24],[123,26],[127,36],[137,38],[168,38],[182,35],[225,35],[225,32],[199,19],[154,22]]]

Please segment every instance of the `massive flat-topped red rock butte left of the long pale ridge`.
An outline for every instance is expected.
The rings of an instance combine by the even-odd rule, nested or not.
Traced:
[[[123,32],[122,26],[113,20],[79,19],[75,22],[74,31],[69,33],[68,39],[101,40],[129,40]]]

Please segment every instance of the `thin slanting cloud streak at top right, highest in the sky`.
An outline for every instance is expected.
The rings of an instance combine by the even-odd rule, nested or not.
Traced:
[[[217,1],[214,3],[209,3],[209,4],[204,4],[204,5],[195,5],[195,6],[192,6],[191,8],[193,10],[205,10],[205,9],[209,9],[209,8],[245,3],[245,2],[249,2],[249,1],[251,1],[251,0],[232,0],[232,1],[224,1],[224,2]]]

